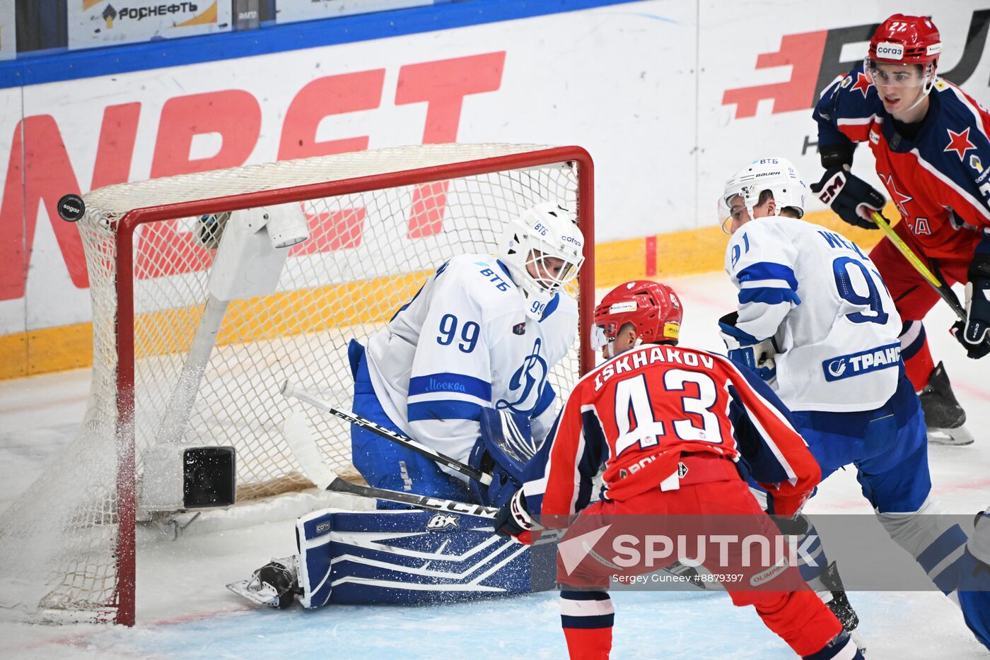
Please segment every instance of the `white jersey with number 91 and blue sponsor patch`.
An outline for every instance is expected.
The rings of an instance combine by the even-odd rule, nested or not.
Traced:
[[[772,337],[774,389],[795,411],[881,406],[897,389],[901,319],[869,257],[820,225],[752,220],[726,249],[739,288],[738,330]]]

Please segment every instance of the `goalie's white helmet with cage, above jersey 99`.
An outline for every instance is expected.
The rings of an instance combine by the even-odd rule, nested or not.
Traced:
[[[553,295],[577,277],[583,247],[574,214],[552,202],[530,207],[505,224],[498,258],[523,293],[527,316],[542,319]]]

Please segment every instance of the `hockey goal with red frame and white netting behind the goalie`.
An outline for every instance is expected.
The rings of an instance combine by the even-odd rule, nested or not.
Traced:
[[[233,445],[239,506],[310,487],[280,435],[291,408],[281,382],[349,409],[347,341],[381,328],[450,256],[494,252],[502,223],[525,208],[576,211],[587,260],[572,293],[590,318],[592,163],[579,147],[387,148],[110,186],[84,200],[89,406],[78,438],[0,519],[0,555],[24,558],[4,569],[21,589],[4,593],[36,611],[134,622],[151,447]],[[284,248],[277,284],[211,308],[224,247],[203,246],[200,219],[233,212],[226,234],[252,211],[304,218],[309,237]],[[217,310],[204,352],[197,335]],[[551,374],[562,396],[591,365],[586,335]],[[321,420],[318,430],[326,459],[347,474],[347,424]]]

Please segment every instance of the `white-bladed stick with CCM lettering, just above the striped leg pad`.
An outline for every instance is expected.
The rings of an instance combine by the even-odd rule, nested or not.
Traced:
[[[466,502],[442,500],[440,498],[431,498],[414,493],[400,493],[384,488],[351,484],[337,476],[337,473],[324,462],[323,456],[320,455],[320,448],[317,446],[316,440],[313,437],[313,429],[305,413],[301,411],[292,413],[285,421],[282,430],[285,435],[285,441],[288,443],[289,449],[292,451],[292,455],[295,456],[299,467],[302,468],[303,474],[318,488],[325,491],[347,493],[363,498],[374,498],[410,505],[419,509],[465,514],[480,518],[494,519],[495,515],[498,514],[498,509],[492,507],[482,507],[481,505],[473,505]]]

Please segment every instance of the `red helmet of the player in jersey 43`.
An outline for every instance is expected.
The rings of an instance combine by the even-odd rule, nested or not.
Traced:
[[[680,299],[666,284],[649,280],[620,284],[595,308],[591,347],[605,348],[605,357],[615,357],[612,342],[626,324],[636,326],[637,344],[676,344],[683,316]]]

